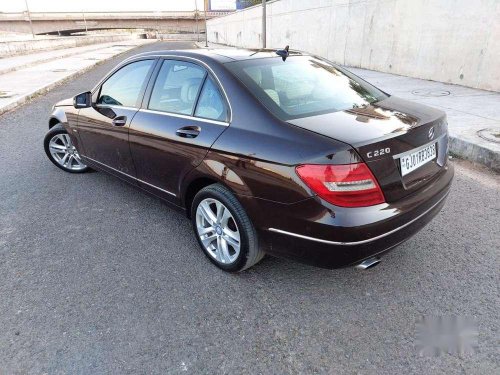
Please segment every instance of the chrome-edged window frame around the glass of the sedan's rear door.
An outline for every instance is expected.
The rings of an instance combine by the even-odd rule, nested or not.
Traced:
[[[210,122],[210,123],[214,123],[214,124],[218,124],[218,125],[229,126],[231,124],[232,113],[233,113],[231,103],[229,102],[226,90],[224,89],[224,86],[222,86],[222,84],[219,80],[219,77],[217,77],[217,75],[214,73],[214,71],[212,70],[212,68],[209,65],[207,65],[205,62],[198,60],[194,57],[188,57],[188,56],[157,55],[156,57],[158,57],[158,63],[156,64],[156,67],[153,71],[153,74],[149,79],[148,87],[146,88],[146,91],[144,93],[144,98],[142,100],[142,104],[141,104],[141,108],[140,108],[142,111],[146,111],[149,113],[161,113],[161,114],[174,116],[174,117],[193,119],[196,121],[206,121],[206,122]],[[205,70],[205,77],[204,77],[202,85],[200,86],[200,89],[197,93],[195,105],[193,107],[193,112],[191,113],[191,115],[185,115],[185,114],[175,113],[175,112],[160,111],[160,110],[148,108],[149,101],[151,99],[151,94],[153,92],[153,88],[154,88],[154,85],[156,83],[156,79],[158,78],[158,74],[160,72],[160,69],[163,66],[164,61],[166,61],[166,60],[168,60],[168,61],[184,61],[184,62],[193,63],[193,64],[201,67],[203,70]],[[198,100],[199,100],[199,97],[201,94],[201,90],[202,90],[203,85],[205,84],[205,81],[206,81],[208,76],[212,77],[215,85],[217,86],[220,93],[222,94],[222,100],[224,102],[224,107],[226,109],[226,114],[227,114],[226,121],[218,121],[218,120],[212,120],[212,119],[206,119],[203,117],[194,116],[194,112],[196,111],[196,106],[198,105]]]

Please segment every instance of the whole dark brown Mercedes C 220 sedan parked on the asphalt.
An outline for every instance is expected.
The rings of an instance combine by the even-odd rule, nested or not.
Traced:
[[[191,218],[226,271],[264,254],[370,267],[443,207],[445,114],[300,52],[192,50],[127,59],[54,106],[44,146]]]

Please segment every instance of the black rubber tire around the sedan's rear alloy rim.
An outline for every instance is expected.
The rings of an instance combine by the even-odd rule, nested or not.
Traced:
[[[237,228],[240,233],[240,253],[236,260],[230,264],[223,264],[213,256],[208,253],[205,246],[201,242],[200,236],[198,235],[197,223],[196,223],[196,211],[200,202],[206,198],[212,198],[220,201],[226,209],[229,210],[236,222]],[[258,263],[265,255],[265,253],[259,249],[259,243],[257,238],[257,232],[248,217],[245,209],[234,196],[229,189],[221,184],[209,185],[201,189],[193,199],[191,205],[191,220],[193,224],[193,231],[196,239],[207,256],[207,258],[214,263],[217,267],[228,272],[240,272],[252,267],[254,264]]]

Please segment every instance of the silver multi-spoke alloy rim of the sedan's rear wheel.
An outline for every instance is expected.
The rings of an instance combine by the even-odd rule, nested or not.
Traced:
[[[224,204],[214,198],[202,200],[196,209],[196,229],[212,258],[226,265],[236,261],[241,249],[240,231]]]

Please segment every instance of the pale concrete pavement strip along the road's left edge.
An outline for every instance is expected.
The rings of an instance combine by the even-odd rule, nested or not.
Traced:
[[[0,114],[96,64],[154,41],[131,39],[1,59],[0,70],[6,72],[0,74]]]

